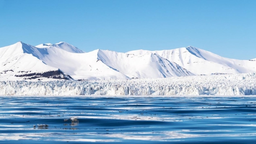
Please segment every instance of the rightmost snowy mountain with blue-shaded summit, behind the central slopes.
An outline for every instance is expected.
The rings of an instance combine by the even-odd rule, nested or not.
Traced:
[[[151,51],[136,50],[126,54],[147,54]],[[195,75],[212,73],[251,73],[256,72],[255,61],[228,59],[195,47],[183,47],[172,50],[152,51],[173,61]]]

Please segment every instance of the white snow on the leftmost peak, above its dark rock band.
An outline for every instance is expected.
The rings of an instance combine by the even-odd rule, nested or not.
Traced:
[[[24,77],[15,75],[58,70],[35,57],[36,53],[40,52],[35,47],[22,42],[0,48],[0,80],[24,80]],[[49,78],[49,80],[53,79]]]

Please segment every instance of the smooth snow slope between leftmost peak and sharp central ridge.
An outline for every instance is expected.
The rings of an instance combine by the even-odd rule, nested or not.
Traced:
[[[60,68],[74,79],[129,79],[102,61],[98,61],[98,50],[70,53],[62,49],[47,49],[47,53],[38,56],[47,65]]]

